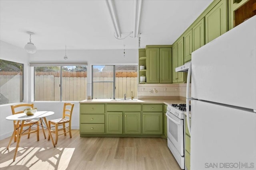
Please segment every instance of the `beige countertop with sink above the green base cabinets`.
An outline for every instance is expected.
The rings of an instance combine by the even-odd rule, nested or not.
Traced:
[[[107,103],[107,104],[182,104],[186,103],[180,99],[88,99],[79,102],[80,104]]]

